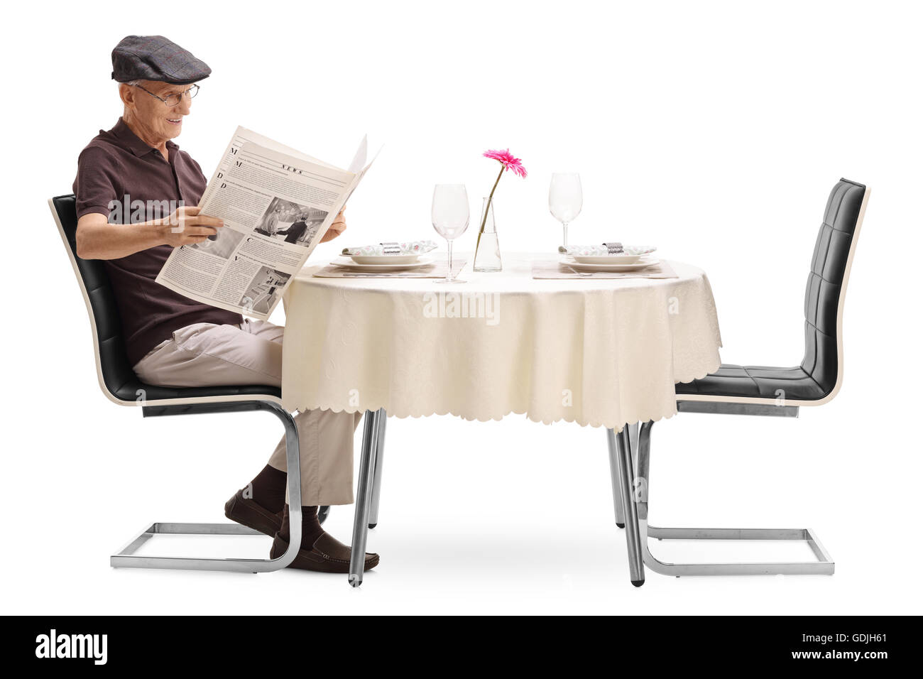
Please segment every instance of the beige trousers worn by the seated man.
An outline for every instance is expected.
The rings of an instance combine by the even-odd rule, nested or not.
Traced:
[[[282,385],[282,333],[267,321],[195,323],[180,328],[138,361],[142,382],[172,387]],[[301,503],[353,502],[353,435],[361,413],[308,410],[294,417],[301,455]],[[285,437],[270,455],[285,471]]]

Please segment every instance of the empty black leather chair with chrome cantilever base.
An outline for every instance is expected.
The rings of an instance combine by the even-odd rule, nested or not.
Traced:
[[[799,406],[821,406],[843,383],[843,309],[846,283],[869,189],[841,179],[827,200],[817,236],[805,295],[805,355],[791,368],[722,365],[701,380],[677,384],[677,410],[714,414],[796,418]],[[833,560],[809,528],[660,528],[648,526],[650,450],[653,422],[610,432],[613,489],[619,527],[627,528],[629,565],[635,585],[643,583],[643,565],[671,576],[759,574],[833,575]],[[633,455],[624,455],[626,449]],[[619,461],[625,460],[617,468]],[[617,474],[633,479],[633,497],[624,502]],[[627,486],[626,486],[627,487]],[[633,501],[633,502],[632,502]],[[806,540],[817,561],[766,564],[665,564],[648,550],[647,538],[675,540]]]

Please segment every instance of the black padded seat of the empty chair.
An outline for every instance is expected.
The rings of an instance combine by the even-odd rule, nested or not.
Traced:
[[[677,399],[682,400],[680,396],[683,394],[740,398],[782,397],[789,401],[816,401],[827,395],[801,366],[770,368],[726,363],[701,380],[678,382]]]

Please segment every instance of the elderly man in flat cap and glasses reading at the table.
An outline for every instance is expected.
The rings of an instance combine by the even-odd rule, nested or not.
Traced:
[[[162,36],[128,36],[112,58],[123,113],[79,156],[77,252],[84,259],[105,261],[129,360],[150,384],[280,386],[282,328],[201,304],[154,281],[172,249],[201,243],[222,228],[220,219],[192,207],[207,180],[173,141],[190,113],[197,83],[211,69]],[[130,214],[115,209],[123,204],[148,209]],[[340,214],[323,240],[345,228]],[[318,505],[353,502],[358,421],[358,414],[326,410],[295,417],[304,516],[295,568],[349,570],[350,550],[320,527]],[[269,464],[224,505],[228,518],[274,538],[272,558],[285,551],[290,537],[285,476],[283,437]],[[366,554],[366,570],[377,564],[377,554]]]

